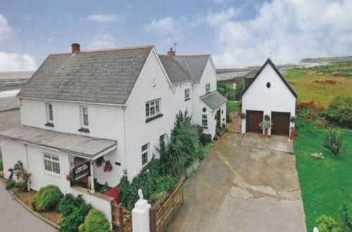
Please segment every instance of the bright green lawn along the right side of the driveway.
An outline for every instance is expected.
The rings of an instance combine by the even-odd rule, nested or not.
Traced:
[[[307,230],[313,231],[315,219],[321,214],[340,219],[340,207],[352,203],[352,131],[344,130],[341,156],[335,158],[322,146],[322,129],[307,127],[298,129],[294,150]],[[310,157],[316,152],[322,153],[325,160]]]

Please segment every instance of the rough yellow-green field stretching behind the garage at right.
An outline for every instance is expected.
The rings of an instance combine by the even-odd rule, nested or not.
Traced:
[[[293,68],[284,77],[298,94],[298,103],[315,101],[327,107],[335,96],[352,95],[352,64]]]

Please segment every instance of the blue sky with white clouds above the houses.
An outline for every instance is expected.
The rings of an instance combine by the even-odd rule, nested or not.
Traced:
[[[216,67],[352,56],[351,0],[30,0],[0,2],[0,71],[49,53],[153,44],[210,53]]]

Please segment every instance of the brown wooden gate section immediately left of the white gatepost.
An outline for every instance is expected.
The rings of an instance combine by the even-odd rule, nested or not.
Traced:
[[[131,232],[132,231],[132,212],[125,210],[115,201],[111,202],[111,214],[113,231]]]

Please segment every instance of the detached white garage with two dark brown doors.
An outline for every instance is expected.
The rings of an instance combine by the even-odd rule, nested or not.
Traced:
[[[289,136],[291,117],[295,116],[297,94],[270,59],[258,71],[249,72],[244,77],[245,89],[242,95],[242,134],[246,132],[264,133],[259,128],[265,115],[272,122],[268,134]]]

